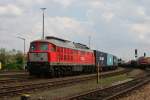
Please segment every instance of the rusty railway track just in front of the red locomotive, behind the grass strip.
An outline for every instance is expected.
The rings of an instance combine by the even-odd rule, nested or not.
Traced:
[[[113,76],[126,73],[126,70],[117,71],[114,73],[105,73],[102,74],[102,77]],[[38,89],[53,89],[59,88],[62,86],[69,86],[79,82],[87,81],[90,79],[96,78],[96,74],[92,75],[82,75],[82,76],[74,76],[74,77],[66,77],[66,78],[56,78],[56,79],[47,79],[43,81],[31,81],[23,82],[22,84],[16,85],[7,85],[4,87],[0,87],[0,97],[6,96],[15,96],[20,93],[29,92]]]

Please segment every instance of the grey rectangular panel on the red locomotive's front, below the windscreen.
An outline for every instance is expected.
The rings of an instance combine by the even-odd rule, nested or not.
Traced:
[[[29,53],[30,62],[47,62],[47,53]]]

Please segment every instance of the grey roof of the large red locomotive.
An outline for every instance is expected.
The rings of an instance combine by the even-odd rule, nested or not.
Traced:
[[[60,47],[72,48],[72,49],[78,49],[78,50],[86,50],[86,51],[92,52],[92,50],[84,44],[71,42],[71,41],[60,39],[60,38],[53,37],[53,36],[48,36],[44,40],[35,40],[33,42],[36,42],[36,41],[50,42]]]

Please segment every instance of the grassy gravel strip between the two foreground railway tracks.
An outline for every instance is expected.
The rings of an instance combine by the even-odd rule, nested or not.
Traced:
[[[129,79],[128,76],[126,74],[123,74],[123,75],[118,75],[118,76],[103,79],[102,82],[100,82],[101,84],[103,84],[103,86],[101,84],[97,84],[96,80],[94,79],[87,82],[76,83],[74,85],[70,85],[58,89],[43,90],[43,91],[41,90],[40,92],[34,92],[31,93],[30,95],[32,99],[34,98],[34,100],[37,100],[37,98],[40,97],[44,98],[42,100],[60,100],[61,97],[66,97],[68,95],[73,95],[76,93],[88,91],[95,88],[110,86],[112,85],[112,83],[115,83],[117,81],[127,80],[127,79]],[[14,97],[11,99],[7,98],[5,100],[20,100],[19,98],[20,97]]]

